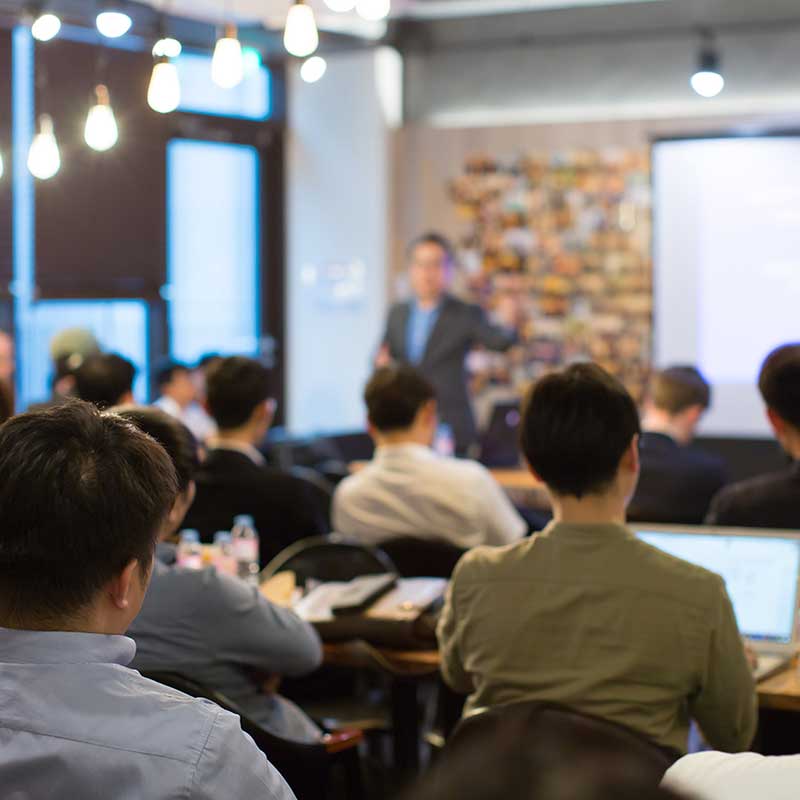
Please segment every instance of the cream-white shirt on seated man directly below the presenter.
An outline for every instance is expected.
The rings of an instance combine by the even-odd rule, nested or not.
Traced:
[[[333,526],[364,544],[415,536],[465,549],[509,544],[527,530],[484,466],[418,444],[379,447],[345,478],[333,497]]]

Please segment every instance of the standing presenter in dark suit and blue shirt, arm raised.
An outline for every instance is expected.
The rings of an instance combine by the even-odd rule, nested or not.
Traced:
[[[392,306],[376,363],[417,367],[433,384],[441,420],[452,428],[456,452],[463,455],[477,438],[465,359],[475,345],[508,350],[517,339],[519,311],[507,298],[498,309],[503,325],[491,324],[480,306],[448,293],[454,266],[452,248],[443,236],[428,233],[411,244],[413,297]]]

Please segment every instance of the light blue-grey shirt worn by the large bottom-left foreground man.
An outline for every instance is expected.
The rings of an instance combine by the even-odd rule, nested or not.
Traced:
[[[0,796],[294,800],[239,717],[143,678],[135,652],[0,628]]]

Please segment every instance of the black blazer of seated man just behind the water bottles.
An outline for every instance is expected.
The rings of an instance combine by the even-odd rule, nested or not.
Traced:
[[[250,514],[261,540],[261,566],[284,547],[330,532],[306,482],[255,464],[235,450],[211,450],[195,479],[197,496],[181,527],[200,531],[211,542],[229,531],[237,514]]]

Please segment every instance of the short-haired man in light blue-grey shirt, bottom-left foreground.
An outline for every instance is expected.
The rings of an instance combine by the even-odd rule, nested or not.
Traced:
[[[3,797],[294,797],[238,717],[128,667],[176,495],[163,448],[87,403],[0,428]]]

